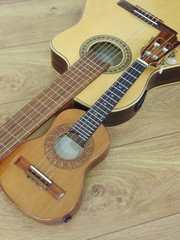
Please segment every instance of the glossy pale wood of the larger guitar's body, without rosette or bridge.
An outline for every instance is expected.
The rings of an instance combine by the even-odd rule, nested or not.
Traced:
[[[158,4],[156,0],[144,2],[141,0],[130,0],[129,2],[153,13],[156,17],[162,19],[166,25],[178,33],[180,32],[179,17],[178,14],[176,14],[176,0],[173,0],[171,3],[165,3],[163,0],[160,0],[158,1]],[[76,34],[77,32],[80,34]],[[156,36],[158,32],[159,30],[149,26],[143,21],[140,21],[139,18],[130,14],[124,8],[117,5],[117,3],[112,4],[112,2],[108,0],[87,1],[84,14],[78,24],[58,34],[52,40],[51,47],[52,52],[54,52],[52,55],[52,64],[54,61],[61,62],[64,60],[69,66],[71,66],[71,64],[78,58],[79,49],[84,41],[92,36],[103,34],[115,36],[125,41],[132,51],[133,62],[140,55],[140,49],[146,45],[147,41],[149,41],[152,36]],[[75,37],[73,41],[69,42],[67,45],[66,43],[68,39],[70,39],[71,35],[75,35]],[[179,34],[178,38],[180,38]],[[71,55],[72,49],[75,49],[73,56]],[[176,71],[179,76],[180,51],[178,49],[176,53],[178,69],[176,69]],[[66,58],[64,58],[64,56]],[[168,66],[168,64],[164,62],[164,68],[166,67],[171,68],[171,66]],[[160,67],[158,69],[160,69]],[[56,71],[58,71],[57,68]],[[61,71],[59,72],[61,73]],[[150,76],[153,75],[153,73],[156,73],[157,75],[156,69],[150,67],[138,79],[138,81],[136,81],[131,89],[129,89],[128,93],[116,105],[105,124],[108,126],[119,124],[127,121],[131,116],[136,114],[137,111],[134,111],[134,107],[136,104],[138,104],[138,101],[143,96],[144,92],[151,88],[152,85]],[[85,90],[75,97],[76,106],[81,107],[82,109],[90,108],[94,102],[97,101],[97,99],[120,76],[120,74],[122,74],[122,72],[116,74],[102,74],[96,79],[96,81],[90,84]],[[163,81],[161,83],[162,85],[169,84],[170,82],[180,81],[180,77],[165,77],[164,79],[166,79],[166,81]],[[159,85],[159,81],[157,81],[157,85],[154,81],[153,87]],[[124,120],[121,120],[119,116],[124,116],[124,113],[127,113],[127,118],[123,117]]]

